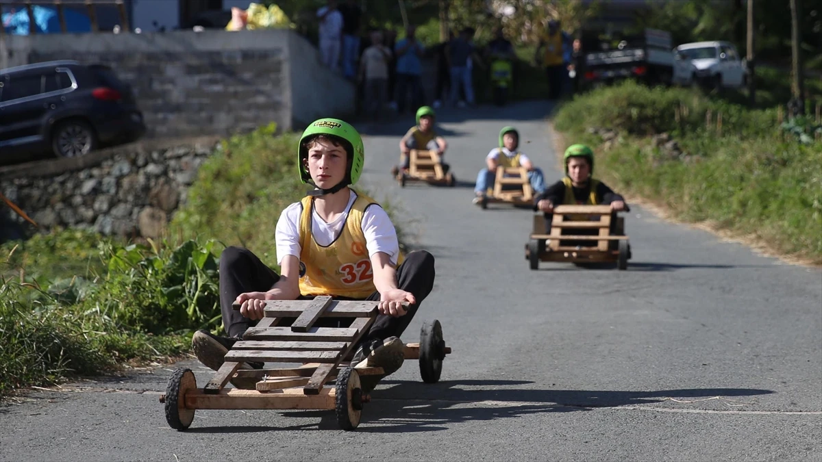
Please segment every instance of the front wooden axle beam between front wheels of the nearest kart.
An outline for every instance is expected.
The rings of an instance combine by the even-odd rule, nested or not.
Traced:
[[[223,389],[214,395],[191,390],[186,394],[188,409],[335,409],[334,387],[303,395],[300,388],[261,393],[257,390]]]

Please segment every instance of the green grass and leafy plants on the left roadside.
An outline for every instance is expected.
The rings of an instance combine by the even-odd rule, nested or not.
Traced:
[[[62,229],[0,244],[0,397],[167,362],[187,353],[193,330],[219,332],[219,252],[244,246],[279,269],[277,219],[307,191],[298,136],[274,133],[272,125],[224,140],[158,242]]]

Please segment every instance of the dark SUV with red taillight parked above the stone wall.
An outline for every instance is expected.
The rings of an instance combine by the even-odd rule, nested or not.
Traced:
[[[0,164],[85,155],[144,133],[132,88],[111,67],[50,61],[0,70]]]

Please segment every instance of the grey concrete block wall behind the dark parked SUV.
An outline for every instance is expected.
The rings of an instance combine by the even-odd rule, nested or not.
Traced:
[[[354,88],[291,30],[7,36],[0,68],[104,62],[135,90],[148,137],[228,135],[353,113]]]

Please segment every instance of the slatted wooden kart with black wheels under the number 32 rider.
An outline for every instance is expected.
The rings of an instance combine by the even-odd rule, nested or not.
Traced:
[[[383,373],[381,367],[354,368],[355,364],[349,363],[355,346],[379,313],[377,305],[327,296],[266,302],[266,317],[246,330],[204,387],[197,386],[191,369],[173,373],[159,398],[166,421],[174,429],[185,430],[192,424],[196,409],[333,409],[339,427],[352,430],[360,422],[363,404],[370,401],[360,387],[360,377]],[[291,326],[278,326],[283,318],[294,317]],[[321,317],[353,321],[344,328],[314,327]],[[419,372],[426,383],[440,380],[442,360],[448,353],[450,348],[436,320],[423,324],[418,344],[405,345],[405,358],[419,360]],[[239,369],[246,362],[300,365]],[[234,377],[257,379],[256,390],[224,388]],[[335,384],[326,386],[330,380]]]

